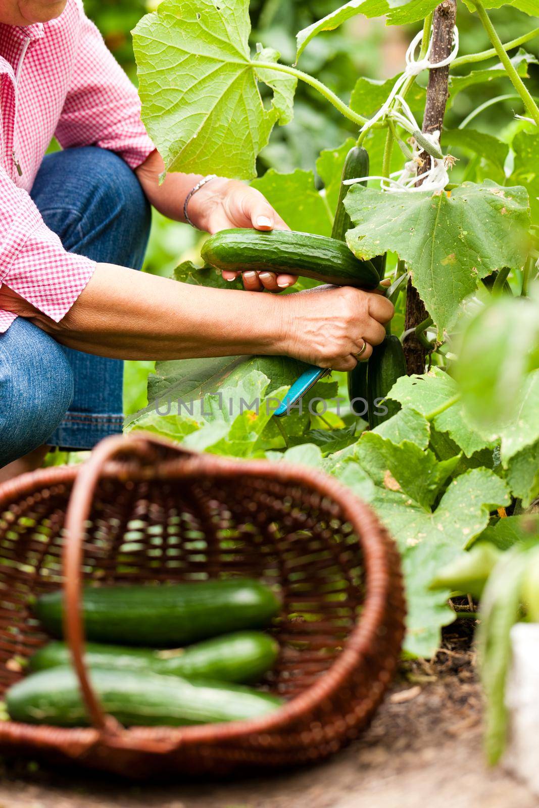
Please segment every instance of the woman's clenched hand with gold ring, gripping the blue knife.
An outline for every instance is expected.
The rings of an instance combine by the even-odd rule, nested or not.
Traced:
[[[352,370],[385,337],[394,305],[376,292],[350,286],[321,287],[286,295],[283,353],[319,368]],[[364,351],[364,343],[367,343]]]

